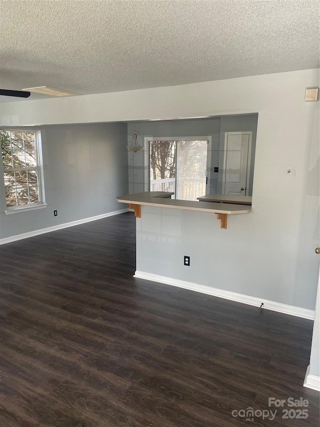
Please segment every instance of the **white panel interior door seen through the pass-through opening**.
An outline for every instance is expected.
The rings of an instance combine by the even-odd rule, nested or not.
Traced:
[[[224,140],[223,194],[248,192],[251,132],[226,132]]]

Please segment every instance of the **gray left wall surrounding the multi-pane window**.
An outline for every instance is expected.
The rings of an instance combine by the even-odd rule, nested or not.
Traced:
[[[41,131],[45,209],[5,215],[0,165],[0,238],[125,208],[127,126],[124,123],[52,125]],[[58,216],[53,216],[57,209]]]

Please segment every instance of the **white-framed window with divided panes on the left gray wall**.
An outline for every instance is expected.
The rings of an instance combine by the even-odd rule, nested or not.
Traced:
[[[7,209],[43,204],[38,132],[0,130],[0,137]]]

